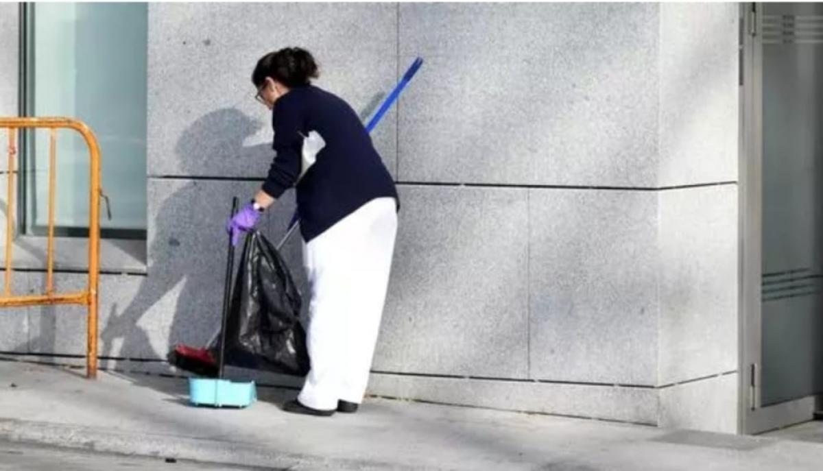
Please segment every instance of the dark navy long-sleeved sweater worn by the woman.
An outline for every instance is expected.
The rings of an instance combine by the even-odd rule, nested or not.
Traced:
[[[272,110],[275,156],[263,191],[280,198],[295,186],[300,232],[305,241],[326,231],[374,198],[397,189],[374,149],[369,133],[346,101],[317,86],[300,86],[281,96]],[[298,182],[303,139],[316,131],[326,142]]]

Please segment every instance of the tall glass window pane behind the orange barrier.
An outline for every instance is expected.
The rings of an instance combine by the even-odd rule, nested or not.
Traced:
[[[34,3],[27,44],[27,113],[88,124],[100,142],[104,235],[146,230],[146,3]],[[33,139],[33,140],[31,140]],[[77,133],[58,133],[55,219],[88,226],[89,161]],[[49,133],[30,138],[23,182],[26,231],[48,224]]]

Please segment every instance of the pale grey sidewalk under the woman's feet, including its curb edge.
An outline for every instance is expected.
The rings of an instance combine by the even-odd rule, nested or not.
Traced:
[[[260,389],[262,400],[245,410],[191,408],[185,391],[182,380],[104,372],[89,381],[80,371],[0,361],[0,440],[288,469],[788,471],[823,463],[823,445],[773,437],[384,399],[355,415],[302,417],[277,407],[293,391]]]

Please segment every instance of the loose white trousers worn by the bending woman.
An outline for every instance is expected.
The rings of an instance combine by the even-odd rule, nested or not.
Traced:
[[[298,396],[305,406],[363,400],[397,231],[394,198],[376,198],[303,245],[311,287],[311,370]]]

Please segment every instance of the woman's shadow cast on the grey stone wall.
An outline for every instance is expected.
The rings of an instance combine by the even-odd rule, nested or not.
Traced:
[[[146,330],[138,325],[152,308],[174,313],[172,319],[162,314],[152,313],[151,316],[152,324],[170,320],[168,345],[205,343],[207,339],[203,336],[216,327],[215,319],[219,319],[221,305],[214,303],[207,313],[196,310],[204,305],[204,298],[215,299],[219,296],[213,295],[222,292],[222,284],[211,285],[216,278],[213,273],[215,262],[225,260],[226,255],[223,250],[216,253],[212,250],[224,220],[208,217],[211,212],[198,217],[198,212],[204,211],[208,204],[218,204],[221,209],[226,207],[227,217],[229,203],[217,201],[220,198],[215,198],[216,195],[205,194],[204,187],[212,182],[186,180],[186,175],[201,173],[197,167],[202,165],[202,156],[208,153],[233,158],[236,166],[256,168],[267,165],[273,156],[269,143],[244,146],[244,142],[262,126],[261,122],[229,108],[202,116],[181,135],[174,147],[180,180],[150,185],[150,200],[161,199],[162,203],[149,211],[153,227],[149,227],[151,245],[148,247],[147,276],[123,310],[118,312],[117,305],[111,306],[109,319],[100,335],[102,357],[164,358],[165,352],[156,352]],[[244,186],[251,184],[244,183],[236,184],[237,194],[243,193]],[[176,189],[165,194],[169,187]],[[151,194],[152,190],[155,194]],[[165,299],[173,290],[179,291],[178,294]],[[166,306],[169,303],[174,303],[174,307]],[[157,327],[162,329],[162,325]],[[122,343],[115,348],[118,341]]]

